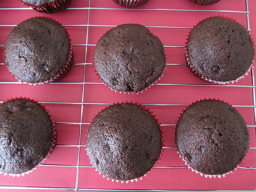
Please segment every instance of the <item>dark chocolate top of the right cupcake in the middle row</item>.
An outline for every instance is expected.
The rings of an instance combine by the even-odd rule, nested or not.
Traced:
[[[197,72],[220,82],[243,76],[254,58],[252,39],[246,28],[220,17],[197,24],[188,37],[187,50]]]

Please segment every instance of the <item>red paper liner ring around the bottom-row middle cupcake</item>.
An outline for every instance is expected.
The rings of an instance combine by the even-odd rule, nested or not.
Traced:
[[[158,124],[158,126],[159,126],[159,128],[160,128],[160,131],[161,131],[161,136],[163,135],[161,124],[158,122],[158,119],[156,119],[156,115],[153,115],[153,111],[150,111],[150,109],[146,108],[145,106],[142,106],[142,104],[138,104],[137,102],[136,102],[136,103],[133,103],[133,102],[127,102],[127,101],[126,101],[125,103],[130,103],[130,104],[138,105],[138,106],[140,106],[141,108],[143,108],[144,110],[148,111],[148,112],[154,117],[154,119],[156,120],[156,122],[157,122],[157,124]],[[121,103],[119,103],[119,102],[113,103],[113,105],[115,105],[115,104],[124,104],[124,102],[121,102]],[[109,105],[109,106],[111,106],[111,105]],[[108,108],[109,106],[106,106],[105,109]],[[102,110],[103,110],[103,109],[102,109]],[[99,112],[98,112],[98,113],[99,113]],[[95,116],[96,116],[96,115],[95,115]],[[92,123],[92,122],[90,122],[90,123]],[[88,132],[88,130],[87,130],[87,132]],[[86,137],[87,137],[87,134],[86,134]],[[162,147],[163,147],[163,140],[162,140]],[[161,149],[161,151],[162,151],[162,150],[163,150],[163,148]],[[87,155],[88,155],[88,154],[87,154]],[[156,160],[156,162],[154,163],[153,167],[156,167],[156,164],[158,164],[158,161],[161,160],[161,158],[160,158],[161,155],[162,155],[162,152],[160,152],[159,157],[158,157],[158,160]],[[90,164],[92,164],[92,162],[90,162]],[[127,180],[127,181],[111,179],[111,178],[108,178],[107,176],[104,176],[104,175],[102,175],[102,176],[103,176],[103,178],[106,177],[107,180],[112,180],[112,182],[114,182],[114,181],[116,181],[116,182],[119,182],[119,181],[120,181],[121,183],[124,183],[124,182],[128,183],[129,181],[130,181],[130,182],[134,182],[134,181],[137,182],[138,179],[142,180],[143,177],[146,177],[147,174],[150,174],[150,172],[153,170],[153,167],[152,167],[148,172],[146,172],[143,176],[140,176],[139,178],[135,178],[135,179],[132,179],[132,180]],[[98,171],[98,170],[95,169],[95,171]],[[101,174],[101,173],[99,172],[99,174]]]

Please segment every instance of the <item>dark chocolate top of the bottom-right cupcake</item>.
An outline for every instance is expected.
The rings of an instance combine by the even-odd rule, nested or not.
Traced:
[[[249,132],[241,114],[219,100],[189,106],[178,120],[176,144],[188,165],[198,172],[227,173],[242,161]]]

